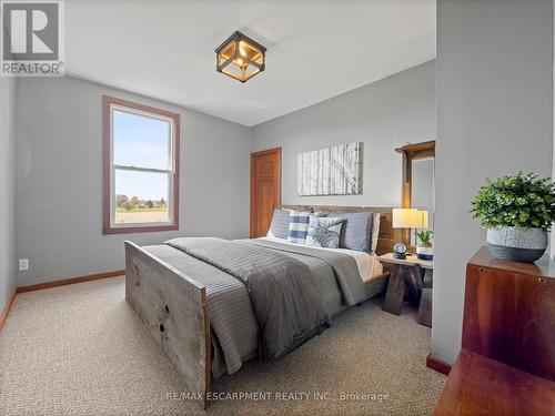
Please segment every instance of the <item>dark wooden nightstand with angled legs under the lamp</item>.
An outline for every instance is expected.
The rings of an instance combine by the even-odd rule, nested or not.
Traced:
[[[411,303],[418,307],[418,323],[432,326],[434,262],[418,260],[415,255],[400,260],[393,257],[393,253],[381,255],[377,258],[382,263],[390,263],[393,266],[382,310],[394,315],[401,314],[405,295],[408,295]],[[422,274],[424,274],[424,278]]]

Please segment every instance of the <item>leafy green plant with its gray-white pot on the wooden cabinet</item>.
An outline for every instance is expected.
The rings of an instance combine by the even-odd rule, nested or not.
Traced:
[[[487,180],[472,203],[474,219],[487,229],[487,243],[498,258],[532,263],[547,248],[555,220],[555,183],[537,174]]]

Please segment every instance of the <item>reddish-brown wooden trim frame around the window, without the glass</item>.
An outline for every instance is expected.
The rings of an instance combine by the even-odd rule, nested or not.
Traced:
[[[129,225],[113,226],[111,221],[112,214],[112,106],[127,108],[131,112],[147,113],[159,115],[173,121],[173,152],[172,152],[172,186],[169,190],[171,193],[172,221],[162,225]],[[103,95],[103,233],[104,234],[130,234],[130,233],[148,233],[159,231],[175,231],[179,230],[179,176],[180,176],[180,115],[170,111],[157,109],[153,106],[142,105],[132,101],[118,99],[115,97]],[[170,209],[170,201],[168,201]]]

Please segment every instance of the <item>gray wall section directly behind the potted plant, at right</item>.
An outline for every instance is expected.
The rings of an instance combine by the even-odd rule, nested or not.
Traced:
[[[485,177],[552,174],[553,0],[437,2],[434,356],[461,346],[465,263],[485,242],[468,215]]]

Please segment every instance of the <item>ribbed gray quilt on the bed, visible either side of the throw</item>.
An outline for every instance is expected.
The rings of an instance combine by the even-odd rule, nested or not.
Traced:
[[[178,241],[143,248],[205,285],[212,328],[212,373],[216,378],[226,372],[235,373],[241,368],[244,357],[259,347],[261,339],[246,285],[225,271],[226,260],[220,258],[225,264],[214,266],[175,248]],[[331,314],[365,296],[356,263],[349,255],[264,240],[241,241],[239,244],[244,247],[245,263],[253,263],[250,248],[260,248],[265,252],[263,262],[268,261],[269,264],[276,255],[282,262],[304,264],[309,268],[309,272],[304,268],[304,273],[307,273],[305,276],[312,275],[325,310]],[[221,255],[225,256],[225,253]]]

